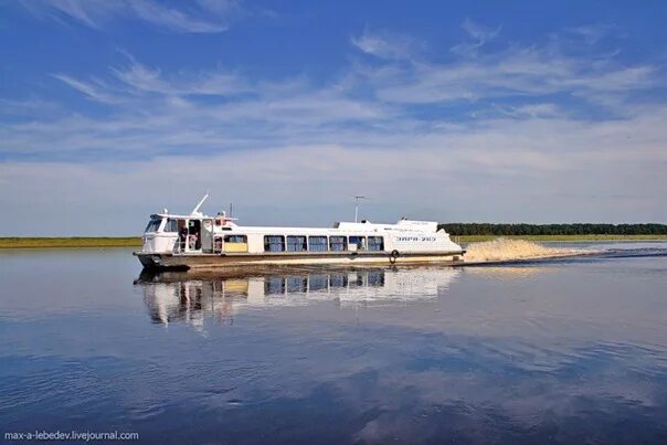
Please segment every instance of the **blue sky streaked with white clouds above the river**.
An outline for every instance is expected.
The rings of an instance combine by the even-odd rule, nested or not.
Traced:
[[[667,222],[664,1],[0,0],[0,236]]]

